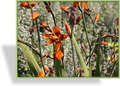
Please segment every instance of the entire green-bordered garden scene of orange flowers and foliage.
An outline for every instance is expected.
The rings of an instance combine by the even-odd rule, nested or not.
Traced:
[[[18,77],[118,77],[118,2],[18,2]]]

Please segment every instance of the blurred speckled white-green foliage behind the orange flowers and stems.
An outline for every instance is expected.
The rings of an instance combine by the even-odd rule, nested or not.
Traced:
[[[18,13],[17,13],[17,24],[18,24],[18,35],[20,35],[22,37],[22,39],[28,43],[31,43],[31,35],[29,33],[29,28],[32,26],[32,20],[31,20],[31,10],[30,9],[24,9],[22,7],[20,7],[20,3],[18,2]],[[71,6],[73,5],[73,2],[52,2],[51,3],[51,8],[54,12],[56,21],[57,21],[57,26],[61,29],[61,33],[66,33],[65,30],[65,26],[63,23],[63,19],[67,20],[67,15],[61,10],[60,5],[68,5]],[[95,33],[98,34],[100,30],[102,30],[101,34],[104,34],[105,32],[109,32],[109,33],[113,33],[114,32],[114,28],[115,28],[115,19],[118,18],[118,2],[88,2],[89,4],[89,8],[92,11],[95,11],[91,14],[92,18],[95,18],[95,15],[97,13],[99,13],[100,16],[100,20],[97,23],[97,25],[95,26]],[[50,13],[47,12],[47,10],[45,9],[45,5],[43,2],[39,2],[34,8],[33,10],[36,10],[40,13],[40,17],[38,22],[41,21],[45,21],[50,28],[53,28],[54,26],[54,22],[52,19],[52,16]],[[76,16],[80,15],[80,11],[77,10],[76,12]],[[85,20],[86,20],[86,25],[87,25],[87,31],[88,31],[88,37],[89,40],[92,40],[92,22],[90,20],[90,18],[88,18],[87,16],[85,16]],[[68,21],[68,20],[67,20]],[[77,42],[79,43],[79,48],[81,48],[81,44],[84,44],[86,50],[89,52],[88,50],[88,43],[86,40],[86,36],[85,36],[85,32],[83,29],[83,23],[80,21],[78,25],[75,25],[74,28],[74,34],[75,37],[77,39]],[[43,28],[42,32],[47,32],[45,31]],[[42,33],[41,33],[42,35]],[[98,34],[99,35],[99,34]],[[38,49],[37,46],[37,34],[36,32],[33,32],[33,37],[34,37],[34,48]],[[41,40],[42,40],[42,55],[48,53],[51,57],[53,56],[53,48],[52,45],[47,45],[46,46],[46,39],[44,37],[41,36]],[[112,40],[106,39],[106,41],[108,42],[112,42]],[[64,67],[65,67],[65,71],[66,72],[66,76],[73,76],[74,72],[73,72],[73,60],[72,58],[70,58],[72,56],[72,52],[71,52],[71,46],[70,46],[70,41],[69,39],[67,39],[66,41],[62,42],[64,47]],[[108,60],[107,58],[111,55],[111,48],[108,46],[105,46],[105,50],[104,52],[106,53],[106,55],[102,55],[100,57],[100,63],[101,65],[101,70],[103,70],[104,72],[101,72],[101,76],[102,77],[107,77],[109,76],[109,74],[112,71],[112,66],[114,63],[111,63],[111,65],[108,65]],[[85,57],[85,53],[83,51],[81,51],[82,56]],[[30,67],[26,61],[26,59],[24,58],[23,52],[21,51],[21,48],[18,45],[18,76],[19,77],[30,77],[30,76],[34,76],[32,71],[30,70]],[[77,60],[77,55],[75,54],[75,58],[76,58],[76,67],[78,67],[78,60]],[[92,61],[94,61],[95,58],[92,59]],[[48,67],[53,68],[53,60],[50,58],[44,59],[45,64]],[[93,62],[93,72],[94,72],[94,65],[95,62]],[[107,66],[107,67],[106,67]],[[105,69],[107,68],[107,70]],[[118,62],[116,64],[116,68],[115,68],[115,72],[113,76],[118,76]]]

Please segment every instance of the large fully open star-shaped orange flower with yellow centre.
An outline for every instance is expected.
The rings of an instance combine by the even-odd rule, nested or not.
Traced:
[[[56,51],[60,48],[61,41],[68,37],[68,35],[61,34],[60,29],[57,26],[53,27],[52,34],[44,33],[43,35],[45,38],[48,39],[48,41],[46,42],[47,45],[55,42],[55,50]]]

